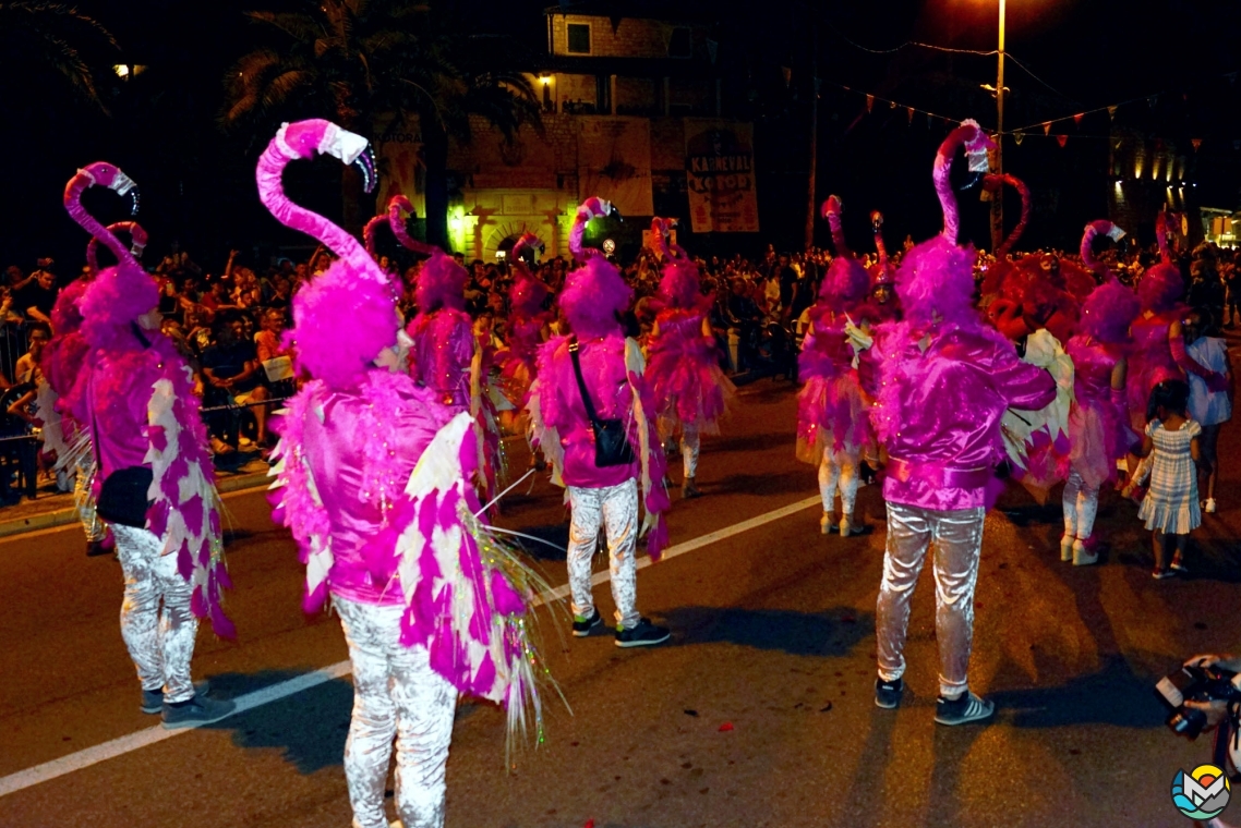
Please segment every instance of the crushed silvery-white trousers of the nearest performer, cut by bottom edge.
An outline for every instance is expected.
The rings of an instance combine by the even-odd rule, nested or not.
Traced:
[[[354,824],[388,828],[383,814],[396,739],[396,809],[403,828],[443,828],[444,767],[457,689],[431,669],[423,647],[401,643],[405,607],[333,596],[354,666],[354,716],[345,741],[345,782]]]

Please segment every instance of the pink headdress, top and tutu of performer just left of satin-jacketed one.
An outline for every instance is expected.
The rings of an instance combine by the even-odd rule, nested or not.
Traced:
[[[845,243],[840,200],[830,196],[822,212],[831,226],[836,258],[810,309],[810,328],[798,356],[805,385],[797,397],[797,456],[814,466],[824,454],[856,454],[870,439],[867,404],[854,367],[858,352],[846,331],[866,300],[870,274]]]

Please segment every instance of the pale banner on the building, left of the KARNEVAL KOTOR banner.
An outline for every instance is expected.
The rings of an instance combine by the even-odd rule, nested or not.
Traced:
[[[583,117],[578,124],[578,195],[611,201],[622,217],[654,216],[650,121],[645,118]]]

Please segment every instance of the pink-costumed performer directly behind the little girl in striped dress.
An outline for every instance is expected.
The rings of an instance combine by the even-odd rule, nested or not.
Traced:
[[[1184,381],[1186,374],[1198,374],[1206,381],[1210,390],[1227,388],[1225,374],[1209,371],[1185,351],[1185,336],[1180,324],[1185,310],[1180,302],[1185,283],[1168,249],[1167,221],[1164,213],[1159,213],[1155,219],[1160,262],[1142,274],[1138,281],[1138,302],[1142,311],[1133,320],[1133,352],[1126,382],[1129,425],[1134,434],[1145,434],[1147,400],[1154,387],[1165,379]],[[1129,470],[1123,495],[1140,500],[1140,487],[1149,473],[1150,457],[1140,462],[1131,459]]]

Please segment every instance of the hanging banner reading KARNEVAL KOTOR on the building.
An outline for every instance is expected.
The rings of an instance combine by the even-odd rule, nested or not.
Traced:
[[[752,124],[685,119],[685,176],[695,233],[757,233]]]

